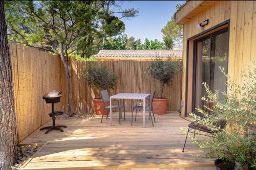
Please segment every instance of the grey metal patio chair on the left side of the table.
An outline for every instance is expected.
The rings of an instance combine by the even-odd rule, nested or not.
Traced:
[[[110,109],[110,106],[105,106],[105,103],[110,101],[110,97],[109,97],[109,93],[108,93],[107,90],[101,90],[100,94],[101,94],[101,99],[103,100],[102,116],[101,116],[101,121],[100,121],[100,123],[102,123],[104,110],[105,109]],[[112,109],[118,109],[119,125],[121,125],[120,118],[122,118],[122,108],[125,108],[124,100],[123,100],[123,105],[121,105],[118,101],[118,105],[112,105],[111,108]],[[123,111],[124,111],[124,120],[125,120],[125,109],[123,109]],[[108,119],[108,116],[109,116],[109,113],[106,115],[106,119]]]

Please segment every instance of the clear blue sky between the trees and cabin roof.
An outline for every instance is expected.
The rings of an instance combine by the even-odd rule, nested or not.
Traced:
[[[177,4],[185,1],[124,1],[121,8],[138,8],[139,16],[130,19],[121,19],[125,23],[124,34],[135,39],[158,39],[162,41],[161,29],[177,11]],[[116,14],[118,16],[118,14]]]

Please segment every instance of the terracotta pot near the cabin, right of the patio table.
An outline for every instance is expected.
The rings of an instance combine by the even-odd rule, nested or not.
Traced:
[[[152,106],[155,114],[166,114],[168,98],[154,98]]]

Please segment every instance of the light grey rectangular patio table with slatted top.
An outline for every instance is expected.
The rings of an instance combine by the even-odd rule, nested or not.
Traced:
[[[145,102],[146,98],[148,98],[150,94],[144,93],[118,93],[115,95],[110,96],[110,125],[112,125],[112,99],[136,99],[136,100],[143,100],[143,128],[145,128]]]

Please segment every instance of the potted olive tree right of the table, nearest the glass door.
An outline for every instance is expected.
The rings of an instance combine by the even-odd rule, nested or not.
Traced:
[[[168,98],[163,98],[163,87],[172,81],[176,74],[181,72],[181,63],[180,61],[173,61],[171,57],[168,57],[166,61],[157,58],[155,61],[150,62],[146,72],[160,82],[158,96],[154,98],[152,104],[153,111],[155,114],[166,114]]]

